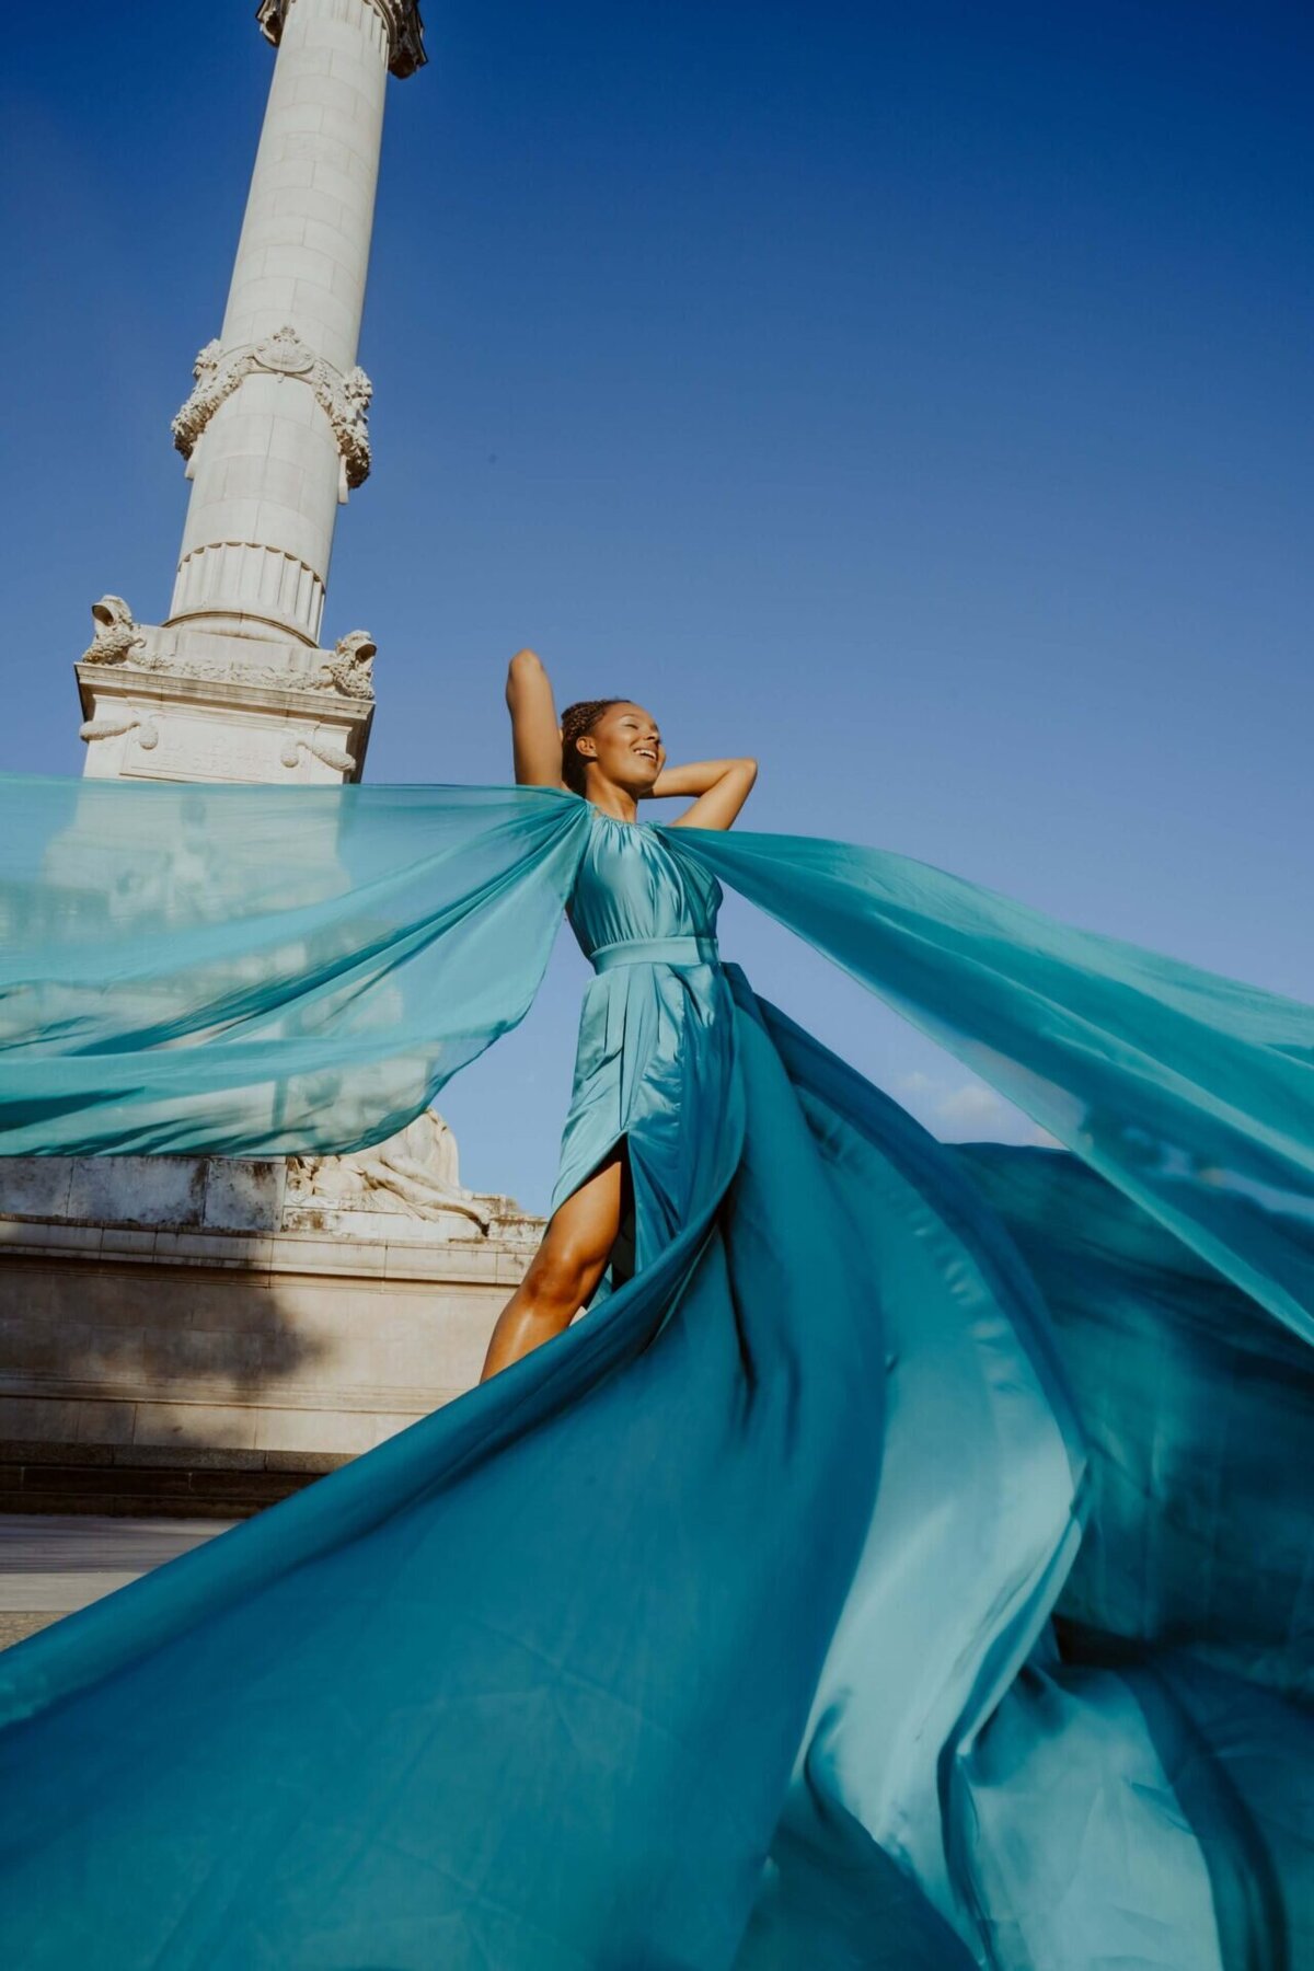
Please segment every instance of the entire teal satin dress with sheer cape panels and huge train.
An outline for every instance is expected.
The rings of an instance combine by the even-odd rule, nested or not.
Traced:
[[[335,1151],[595,964],[558,1340],[0,1660],[33,1967],[1314,1971],[1314,1011],[524,788],[0,782],[6,1149]],[[294,879],[284,869],[294,869]],[[936,1143],[719,879],[1068,1149]]]

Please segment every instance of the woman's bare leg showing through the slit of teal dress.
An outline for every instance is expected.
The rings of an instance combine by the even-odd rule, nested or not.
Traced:
[[[623,1200],[624,1153],[615,1149],[552,1214],[528,1273],[496,1317],[481,1382],[571,1325],[603,1277]]]

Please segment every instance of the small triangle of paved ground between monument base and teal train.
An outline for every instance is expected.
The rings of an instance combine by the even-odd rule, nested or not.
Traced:
[[[0,1650],[199,1547],[227,1520],[0,1512]]]

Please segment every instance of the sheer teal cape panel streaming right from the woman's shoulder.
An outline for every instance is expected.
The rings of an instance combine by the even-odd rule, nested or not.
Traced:
[[[1312,1007],[879,850],[697,853],[1314,1340]]]

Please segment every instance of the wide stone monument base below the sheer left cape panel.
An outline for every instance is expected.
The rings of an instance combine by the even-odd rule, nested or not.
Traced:
[[[16,1157],[0,1512],[238,1518],[451,1401],[542,1220],[439,1118],[357,1157]]]

